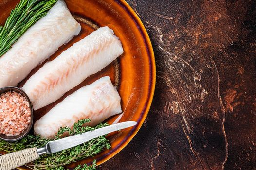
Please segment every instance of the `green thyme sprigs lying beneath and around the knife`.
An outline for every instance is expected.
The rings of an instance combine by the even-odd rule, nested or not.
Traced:
[[[83,124],[89,121],[90,119],[79,120],[77,123],[74,124],[73,130],[68,127],[61,127],[58,133],[55,135],[55,140],[59,139],[64,133],[76,135],[108,126],[107,123],[100,123],[95,127],[84,127]],[[46,143],[49,141],[51,140],[41,139],[40,136],[37,135],[28,135],[20,141],[16,142],[6,142],[0,140],[0,150],[11,153],[25,148],[42,147],[46,145]],[[32,170],[65,170],[65,165],[76,162],[77,160],[94,156],[100,153],[105,148],[110,149],[110,143],[108,139],[106,139],[106,136],[100,136],[76,147],[66,149],[58,153],[43,155],[39,157],[39,159],[37,159],[36,161],[26,164],[25,166]],[[74,170],[96,170],[95,167],[96,161],[93,161],[91,166],[79,165]]]

